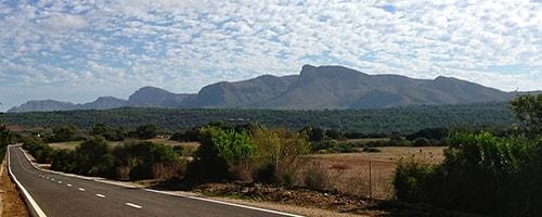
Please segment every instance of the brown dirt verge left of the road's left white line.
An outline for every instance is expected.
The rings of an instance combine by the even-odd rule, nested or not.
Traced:
[[[8,164],[5,161],[2,162],[0,170],[0,216],[29,216],[25,203],[8,175]]]

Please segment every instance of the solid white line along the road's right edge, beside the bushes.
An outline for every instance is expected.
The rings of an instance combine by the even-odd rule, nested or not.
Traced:
[[[37,167],[36,165],[34,165],[31,163],[30,158],[26,155],[26,152],[22,148],[18,148],[18,149],[21,149],[21,151],[23,151],[23,153],[26,156],[26,158],[28,159],[28,162],[30,162],[30,164],[36,169],[38,169],[38,170],[46,171],[46,173],[57,174],[57,175],[66,176],[66,177],[75,177],[75,178],[79,178],[79,179],[91,180],[91,181],[95,181],[95,182],[102,182],[102,183],[112,184],[112,186],[120,186],[120,187],[125,187],[126,188],[126,186],[121,186],[121,184],[117,184],[117,183],[114,183],[114,182],[104,181],[103,178],[89,178],[89,177],[82,177],[82,176],[78,176],[78,175],[72,175],[72,176],[69,176],[68,174],[59,173],[59,171],[52,171],[52,170],[46,170],[46,169],[39,168],[39,167]],[[278,215],[283,215],[283,216],[304,217],[301,215],[296,215],[296,214],[282,213],[282,212],[278,212],[278,210],[271,210],[271,209],[266,209],[266,208],[258,208],[258,207],[253,207],[253,206],[247,206],[247,205],[228,203],[228,202],[216,201],[216,200],[204,199],[204,197],[197,197],[197,196],[180,195],[180,194],[175,194],[175,193],[169,193],[169,192],[164,192],[164,191],[157,191],[157,190],[153,190],[153,189],[142,189],[142,190],[143,191],[154,192],[154,193],[162,193],[162,194],[167,194],[167,195],[181,196],[181,197],[186,197],[186,199],[192,199],[192,200],[198,200],[198,201],[205,201],[205,202],[210,202],[210,203],[217,203],[217,204],[222,204],[222,205],[235,206],[235,207],[240,207],[240,208],[247,208],[247,209],[259,210],[259,212],[264,212],[264,213],[278,214]]]

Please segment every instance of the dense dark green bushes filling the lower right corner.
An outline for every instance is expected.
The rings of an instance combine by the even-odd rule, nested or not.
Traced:
[[[540,216],[542,95],[522,95],[511,105],[518,117],[515,132],[455,132],[441,164],[399,163],[397,197],[482,215]]]

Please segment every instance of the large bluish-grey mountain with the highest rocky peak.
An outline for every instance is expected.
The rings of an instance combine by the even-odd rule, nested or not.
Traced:
[[[288,80],[284,81],[285,78]],[[210,85],[184,105],[295,110],[376,108],[411,104],[500,102],[511,98],[508,92],[455,78],[414,79],[399,75],[367,75],[341,66],[305,65],[298,76],[262,76],[242,82]]]

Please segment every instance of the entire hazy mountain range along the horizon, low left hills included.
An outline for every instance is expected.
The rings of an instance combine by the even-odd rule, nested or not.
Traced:
[[[514,98],[515,94],[453,77],[415,79],[400,75],[367,75],[343,66],[305,65],[299,75],[263,75],[243,81],[222,81],[206,86],[192,94],[144,87],[128,100],[101,97],[85,104],[54,100],[28,101],[8,112],[107,110],[125,106],[380,108],[416,104],[502,102]]]

